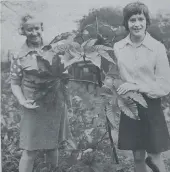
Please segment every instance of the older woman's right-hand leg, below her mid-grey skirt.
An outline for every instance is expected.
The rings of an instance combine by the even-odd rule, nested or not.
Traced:
[[[50,162],[54,167],[58,166],[58,149],[47,150],[47,162]]]

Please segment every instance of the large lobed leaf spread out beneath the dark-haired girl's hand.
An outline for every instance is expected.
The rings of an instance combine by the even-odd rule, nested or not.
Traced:
[[[137,104],[147,108],[145,99],[140,93],[135,91],[129,91],[126,94],[119,95],[116,90],[124,81],[120,78],[118,70],[113,70],[113,73],[110,71],[112,76],[110,74],[106,76],[104,85],[101,88],[101,98],[97,105],[98,112],[101,112],[101,108],[106,107],[106,116],[113,125],[115,121],[112,116],[114,115],[116,117],[116,114],[120,114],[121,111],[130,118],[139,120]]]

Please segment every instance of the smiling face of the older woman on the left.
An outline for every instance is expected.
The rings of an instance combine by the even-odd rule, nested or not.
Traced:
[[[42,40],[42,26],[41,23],[27,22],[23,26],[27,41],[30,43],[39,43]]]

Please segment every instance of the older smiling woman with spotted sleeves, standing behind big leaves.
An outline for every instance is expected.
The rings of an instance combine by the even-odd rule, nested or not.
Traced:
[[[66,106],[54,103],[48,108],[43,100],[39,101],[39,106],[33,103],[35,92],[41,91],[39,86],[45,76],[29,72],[36,69],[36,61],[32,56],[26,55],[43,47],[43,23],[26,15],[21,20],[20,31],[21,35],[26,36],[26,42],[11,64],[11,88],[23,110],[20,122],[20,148],[23,149],[23,154],[19,171],[32,172],[37,150],[41,149],[46,150],[47,161],[57,166],[57,144],[66,139],[69,132]]]

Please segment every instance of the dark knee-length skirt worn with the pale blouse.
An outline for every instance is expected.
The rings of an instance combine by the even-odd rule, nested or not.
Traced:
[[[138,105],[140,120],[121,114],[118,148],[160,153],[170,149],[170,136],[161,108],[161,99],[144,96],[148,108]]]

